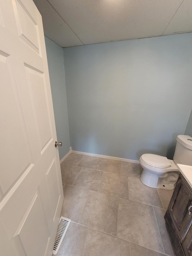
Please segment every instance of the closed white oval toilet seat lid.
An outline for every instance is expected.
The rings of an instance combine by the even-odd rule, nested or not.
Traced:
[[[155,154],[143,154],[141,160],[152,167],[167,168],[171,166],[170,161],[165,156]]]

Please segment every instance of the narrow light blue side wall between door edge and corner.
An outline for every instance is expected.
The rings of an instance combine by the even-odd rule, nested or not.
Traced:
[[[70,148],[63,49],[47,37],[45,37],[45,45],[57,140],[63,143],[62,147],[59,147],[59,158],[61,160],[69,152]]]

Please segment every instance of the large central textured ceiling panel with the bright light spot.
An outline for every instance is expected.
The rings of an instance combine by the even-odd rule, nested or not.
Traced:
[[[49,0],[84,44],[162,35],[182,0]]]

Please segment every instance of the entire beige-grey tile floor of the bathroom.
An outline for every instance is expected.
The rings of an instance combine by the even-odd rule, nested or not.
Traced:
[[[173,191],[140,181],[139,164],[71,153],[61,164],[71,219],[57,256],[174,256],[164,214]]]

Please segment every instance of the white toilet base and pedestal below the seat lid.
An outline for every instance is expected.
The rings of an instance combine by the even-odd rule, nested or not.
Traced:
[[[147,170],[143,169],[143,172],[140,176],[140,181],[151,188],[160,188],[165,190],[173,190],[174,184],[176,183],[179,177],[179,172],[167,172],[162,177],[159,177],[156,174],[150,173]]]

